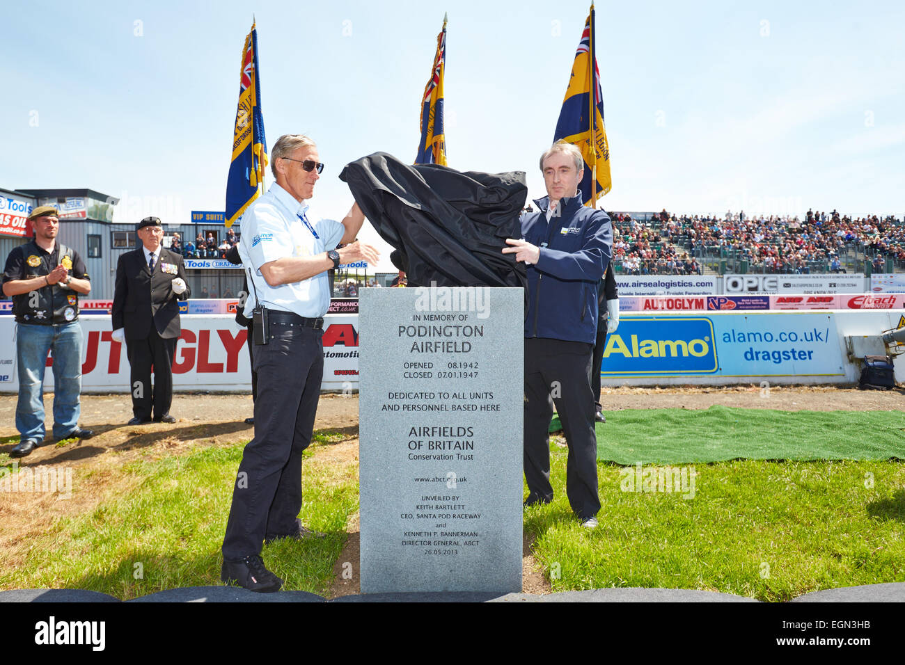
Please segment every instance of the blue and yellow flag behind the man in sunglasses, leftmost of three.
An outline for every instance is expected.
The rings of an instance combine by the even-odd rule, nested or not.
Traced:
[[[261,113],[261,71],[258,69],[258,31],[245,37],[239,80],[239,106],[235,112],[233,159],[226,180],[226,226],[232,226],[252,201],[261,195],[267,139]]]

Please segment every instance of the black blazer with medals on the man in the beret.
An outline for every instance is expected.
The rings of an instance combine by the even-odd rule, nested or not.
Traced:
[[[186,291],[176,295],[170,285],[177,277],[186,282]],[[138,247],[119,257],[116,290],[113,293],[113,329],[126,328],[127,339],[144,339],[153,322],[164,339],[179,337],[179,305],[176,300],[191,297],[182,256],[160,248],[160,258],[151,274],[145,251]]]

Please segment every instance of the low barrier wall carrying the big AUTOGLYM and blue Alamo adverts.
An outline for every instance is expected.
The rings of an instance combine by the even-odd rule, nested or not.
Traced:
[[[125,345],[112,341],[109,315],[82,315],[82,390],[127,393]],[[905,322],[905,309],[823,311],[628,312],[608,335],[605,385],[852,384],[860,366],[845,337],[879,335]],[[250,392],[246,332],[229,315],[182,317],[173,366],[176,390]],[[18,390],[15,323],[0,318],[0,392]],[[329,314],[324,324],[322,390],[358,386],[358,317]],[[511,349],[509,349],[511,350]],[[48,359],[48,365],[51,360]],[[905,358],[896,365],[905,382]],[[44,378],[52,389],[52,373]]]

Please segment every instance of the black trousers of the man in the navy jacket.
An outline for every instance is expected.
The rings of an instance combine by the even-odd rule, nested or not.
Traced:
[[[566,493],[581,519],[600,510],[597,439],[591,393],[591,345],[558,339],[525,340],[525,480],[539,499],[553,499],[548,430],[553,397],[568,444]]]

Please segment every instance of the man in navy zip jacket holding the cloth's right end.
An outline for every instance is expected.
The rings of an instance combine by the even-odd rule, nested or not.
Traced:
[[[525,505],[549,503],[548,428],[553,398],[568,443],[566,493],[582,525],[597,526],[597,441],[590,369],[597,329],[597,289],[613,254],[613,225],[582,205],[584,160],[557,142],[540,157],[548,196],[521,218],[522,238],[507,240],[528,267],[525,318]]]

